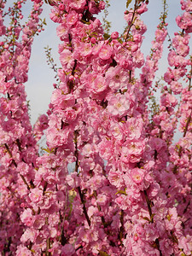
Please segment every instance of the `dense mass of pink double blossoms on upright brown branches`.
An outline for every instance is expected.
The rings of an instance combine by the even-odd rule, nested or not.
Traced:
[[[0,255],[191,255],[191,0],[181,1],[182,31],[172,38],[153,115],[148,100],[165,16],[145,59],[148,1],[136,0],[125,11],[124,35],[108,39],[95,17],[103,1],[47,1],[59,24],[60,82],[33,128],[24,84],[43,2],[32,1],[21,26],[25,2],[6,12],[0,0]],[[182,137],[174,144],[177,127]]]

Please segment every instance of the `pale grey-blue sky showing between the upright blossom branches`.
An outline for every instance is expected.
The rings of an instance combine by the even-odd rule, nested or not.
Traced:
[[[29,1],[30,2],[30,1]],[[134,2],[134,1],[132,1]],[[178,31],[175,18],[181,15],[179,0],[167,0],[168,3],[168,31],[173,36],[174,32]],[[125,27],[124,11],[126,0],[111,0],[111,7],[109,9],[108,20],[112,22],[111,32],[123,32]],[[30,4],[26,3],[24,14],[30,10]],[[161,0],[151,0],[148,4],[148,12],[142,15],[144,23],[148,27],[148,31],[144,34],[143,54],[148,55],[151,47],[151,41],[154,39],[154,31],[159,23],[160,12],[162,11]],[[32,56],[30,61],[28,81],[26,83],[27,100],[30,101],[30,115],[32,124],[38,119],[42,113],[46,113],[50,102],[50,96],[53,91],[53,84],[55,83],[55,73],[49,68],[46,62],[46,55],[44,47],[49,45],[52,48],[52,56],[60,67],[59,55],[57,53],[59,39],[56,36],[56,24],[49,19],[50,6],[44,4],[44,11],[41,15],[42,19],[46,19],[47,26],[44,27],[44,32],[41,32],[38,37],[34,39],[32,45]],[[101,17],[101,15],[100,15]],[[168,44],[165,45],[165,49]],[[166,72],[167,49],[163,59],[160,61],[160,71],[157,76],[160,77]]]

